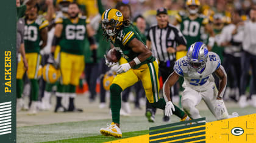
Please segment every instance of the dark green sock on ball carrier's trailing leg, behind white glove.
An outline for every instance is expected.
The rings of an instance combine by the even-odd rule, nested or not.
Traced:
[[[161,108],[163,110],[165,110],[165,99],[160,98],[157,102],[152,103],[151,105],[154,108]],[[185,115],[185,112],[182,111],[179,107],[177,107],[176,105],[174,105],[175,111],[173,111],[173,114],[178,116],[180,119],[182,119]]]

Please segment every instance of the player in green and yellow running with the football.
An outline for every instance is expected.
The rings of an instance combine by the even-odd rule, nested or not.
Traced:
[[[102,27],[106,38],[110,39],[115,49],[128,61],[126,64],[119,65],[116,70],[118,75],[110,86],[113,122],[107,128],[101,128],[102,135],[122,137],[119,128],[121,92],[140,80],[146,97],[153,107],[165,110],[166,116],[171,116],[173,111],[175,115],[184,118],[183,121],[190,119],[171,101],[165,102],[164,99],[159,98],[158,63],[129,21],[124,20],[123,14],[115,8],[105,10],[102,14]],[[110,67],[116,65],[108,57],[106,57],[106,64]]]

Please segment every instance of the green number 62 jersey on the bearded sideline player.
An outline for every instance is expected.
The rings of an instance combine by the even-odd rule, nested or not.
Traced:
[[[60,36],[60,51],[74,55],[84,55],[85,38],[87,38],[86,25],[89,23],[85,16],[80,16],[75,23],[73,19],[58,18],[56,24],[62,24]]]

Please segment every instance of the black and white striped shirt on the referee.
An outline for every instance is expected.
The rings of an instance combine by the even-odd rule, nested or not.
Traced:
[[[165,28],[154,25],[149,28],[147,39],[152,44],[152,54],[160,62],[175,61],[176,53],[168,53],[167,48],[176,48],[177,44],[187,45],[185,37],[174,25],[168,24]]]

